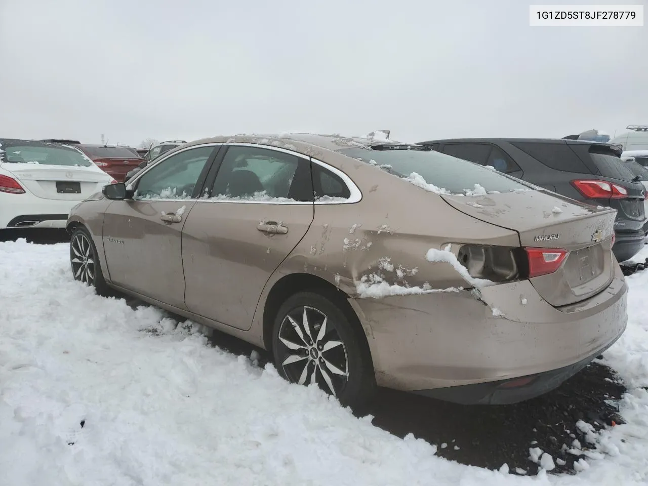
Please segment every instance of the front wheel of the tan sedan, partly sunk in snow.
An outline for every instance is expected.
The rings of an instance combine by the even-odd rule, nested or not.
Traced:
[[[76,227],[70,237],[70,266],[75,280],[95,287],[98,295],[111,295],[111,288],[104,280],[97,247],[90,232],[83,226]]]

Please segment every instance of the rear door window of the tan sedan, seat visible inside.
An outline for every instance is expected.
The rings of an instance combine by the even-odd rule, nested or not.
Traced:
[[[312,201],[310,162],[268,148],[230,146],[208,197],[221,201]]]

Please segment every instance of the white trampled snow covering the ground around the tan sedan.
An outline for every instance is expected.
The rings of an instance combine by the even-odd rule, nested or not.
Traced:
[[[155,308],[98,297],[67,251],[0,243],[1,485],[648,483],[648,272],[629,277],[628,329],[605,354],[627,424],[592,435],[577,474],[531,478],[435,456]]]

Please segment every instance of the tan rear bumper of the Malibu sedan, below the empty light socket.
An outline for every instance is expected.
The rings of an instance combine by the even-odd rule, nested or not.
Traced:
[[[608,288],[561,308],[549,305],[529,281],[483,287],[477,297],[462,291],[350,303],[380,386],[430,395],[432,389],[553,371],[555,382],[545,386],[550,389],[625,330],[627,284],[618,265],[614,272]],[[503,315],[494,316],[494,308]]]

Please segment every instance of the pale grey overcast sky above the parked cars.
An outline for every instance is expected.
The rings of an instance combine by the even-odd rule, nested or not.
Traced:
[[[0,136],[415,142],[648,124],[648,27],[529,27],[529,3],[0,0]]]

